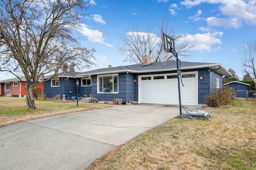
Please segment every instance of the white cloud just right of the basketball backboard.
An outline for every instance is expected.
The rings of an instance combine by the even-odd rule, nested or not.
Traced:
[[[219,39],[222,37],[223,32],[215,32],[215,33],[203,33],[203,34],[187,34],[184,38],[189,43],[193,44],[196,43],[194,50],[200,51],[212,51],[212,46],[216,44],[221,44],[221,40]],[[219,49],[217,47],[216,49]]]

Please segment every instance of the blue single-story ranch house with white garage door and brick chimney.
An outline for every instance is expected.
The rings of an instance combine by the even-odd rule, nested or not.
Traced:
[[[205,96],[214,88],[222,88],[223,77],[230,76],[222,64],[181,62],[180,68],[182,105],[204,104]],[[151,62],[145,55],[142,64],[61,73],[44,82],[44,93],[48,98],[57,94],[76,96],[76,80],[80,82],[80,96],[92,94],[99,101],[122,98],[139,104],[179,104],[177,67],[172,60]]]

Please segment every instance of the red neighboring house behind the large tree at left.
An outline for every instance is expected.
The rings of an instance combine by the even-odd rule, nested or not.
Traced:
[[[20,78],[26,83],[25,77]],[[11,78],[0,81],[0,96],[7,94],[7,96],[26,96],[25,85],[18,78]],[[44,83],[38,84],[36,87],[41,88],[44,92]]]

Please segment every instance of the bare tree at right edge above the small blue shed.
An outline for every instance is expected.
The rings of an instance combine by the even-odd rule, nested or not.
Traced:
[[[256,39],[249,41],[243,45],[240,52],[240,60],[242,64],[242,71],[248,79],[256,81]]]

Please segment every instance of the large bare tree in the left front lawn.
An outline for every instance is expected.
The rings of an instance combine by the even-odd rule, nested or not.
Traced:
[[[80,46],[76,29],[87,9],[84,0],[0,0],[0,71],[24,74],[28,108],[36,108],[32,89],[45,74],[93,64],[94,49]]]

